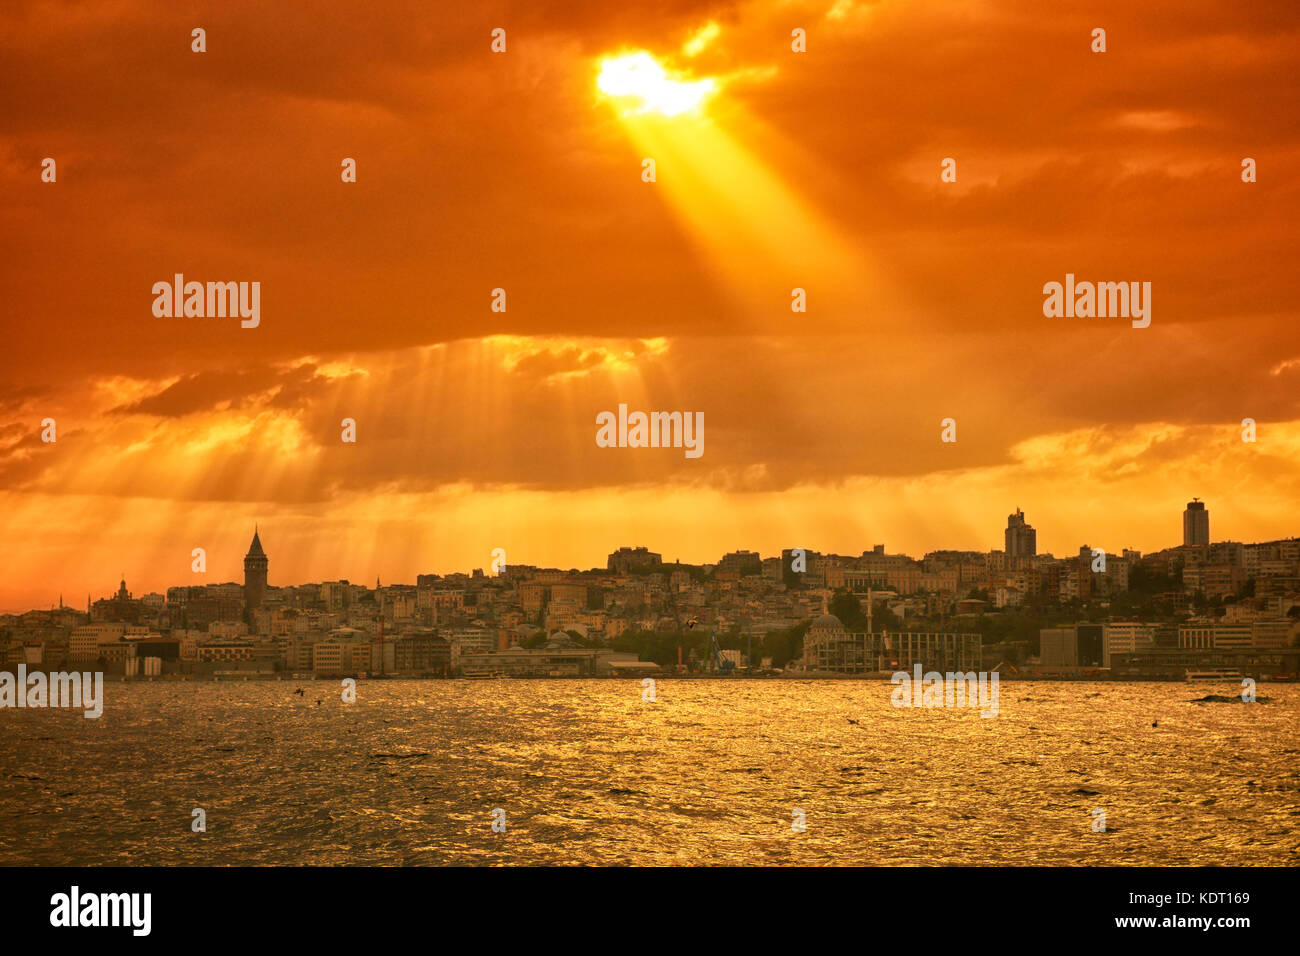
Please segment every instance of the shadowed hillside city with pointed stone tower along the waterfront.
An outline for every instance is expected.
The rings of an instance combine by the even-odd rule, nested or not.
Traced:
[[[140,679],[879,676],[916,663],[1004,678],[1294,680],[1300,538],[1210,541],[1209,510],[1150,554],[1004,548],[857,557],[740,550],[712,564],[619,548],[603,568],[526,564],[273,587],[255,529],[243,584],[114,594],[0,617],[0,662]]]

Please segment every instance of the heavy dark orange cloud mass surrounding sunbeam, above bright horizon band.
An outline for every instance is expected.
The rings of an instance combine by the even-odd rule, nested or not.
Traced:
[[[276,502],[456,481],[784,490],[1015,467],[1020,442],[1076,428],[1297,416],[1296,372],[1271,369],[1300,351],[1300,9],[829,8],[8,4],[0,415],[27,431],[6,477]],[[871,264],[857,298],[812,289],[792,316],[798,280],[755,269],[771,307],[737,304],[672,170],[640,182],[593,57],[670,56],[710,18],[724,29],[694,66],[734,74],[718,127]],[[155,319],[152,284],[176,272],[261,281],[261,326]],[[1044,319],[1066,272],[1152,281],[1152,328]],[[152,390],[96,405],[117,377]],[[705,459],[597,449],[619,402],[703,411]],[[44,406],[94,444],[31,447]],[[937,440],[946,416],[957,445]],[[203,467],[178,483],[186,455]]]

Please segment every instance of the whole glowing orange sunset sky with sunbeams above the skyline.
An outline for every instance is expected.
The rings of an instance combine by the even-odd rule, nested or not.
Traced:
[[[1294,0],[294,7],[0,8],[0,610],[242,580],[255,523],[273,585],[988,550],[1015,507],[1154,550],[1192,496],[1300,535]],[[642,51],[708,95],[598,88]],[[259,328],[155,317],[174,273],[260,281]],[[1066,273],[1150,328],[1044,317]],[[598,447],[620,402],[703,457]]]

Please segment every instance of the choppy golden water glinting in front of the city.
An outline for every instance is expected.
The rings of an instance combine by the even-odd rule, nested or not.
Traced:
[[[892,689],[108,683],[98,721],[0,710],[0,864],[1300,862],[1297,685],[1005,682],[991,719]]]

